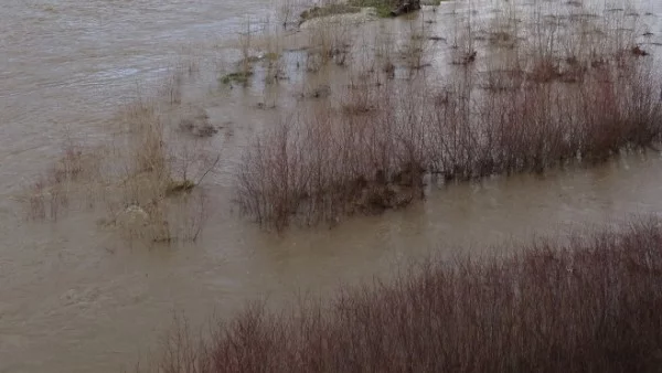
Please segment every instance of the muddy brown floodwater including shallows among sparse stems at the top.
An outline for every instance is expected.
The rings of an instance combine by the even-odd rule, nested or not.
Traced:
[[[651,54],[647,58],[658,61],[662,6],[620,4],[562,7],[572,14],[630,14],[620,26]],[[442,2],[412,17],[333,26],[332,35],[306,31],[306,23],[300,32],[293,25],[284,31],[282,11],[274,9],[278,4],[268,0],[7,1],[0,13],[0,372],[131,369],[158,349],[175,312],[200,326],[247,300],[266,298],[279,307],[297,294],[323,296],[340,284],[387,277],[429,255],[502,255],[503,243],[662,211],[662,153],[653,147],[595,167],[429,183],[425,200],[339,219],[332,228],[263,230],[239,213],[234,192],[243,151],[256,134],[300,107],[343,105],[335,93],[371,70],[372,60],[360,56],[375,54],[375,45],[398,55],[388,70],[394,82],[415,79],[408,76],[412,64],[439,82],[452,77],[456,19],[473,19],[470,35],[479,44],[506,8],[501,1]],[[245,30],[254,39],[247,41]],[[406,40],[421,38],[425,57],[408,58]],[[339,40],[353,41],[345,66],[307,58],[311,45]],[[236,61],[243,49],[252,49],[259,65],[245,86],[232,75],[236,66],[242,72]],[[274,71],[263,63],[270,51],[280,56]],[[479,55],[481,67],[490,61]],[[273,73],[282,83],[263,84]],[[31,219],[26,191],[63,149],[76,143],[110,148],[96,154],[102,158],[121,153],[121,115],[152,97],[162,100],[163,118],[178,118],[180,106],[193,105],[217,131],[200,145],[202,168],[213,170],[194,177],[203,177],[206,198],[204,224],[192,223],[201,226],[195,242],[126,239],[104,223],[116,206],[103,193],[82,202],[72,194],[66,209]]]

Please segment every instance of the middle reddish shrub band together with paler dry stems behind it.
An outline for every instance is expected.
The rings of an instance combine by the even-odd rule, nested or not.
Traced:
[[[451,77],[425,73],[417,45],[428,38],[425,25],[413,28],[410,46],[423,55],[408,50],[407,81],[375,62],[350,73],[337,102],[258,135],[237,174],[242,210],[278,230],[337,222],[406,205],[428,178],[544,172],[661,139],[660,76],[628,31],[637,18],[505,7],[484,38],[471,12],[458,15]],[[389,63],[384,52],[376,47],[374,61]]]

